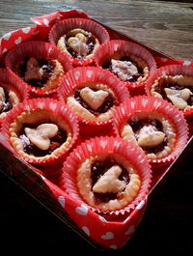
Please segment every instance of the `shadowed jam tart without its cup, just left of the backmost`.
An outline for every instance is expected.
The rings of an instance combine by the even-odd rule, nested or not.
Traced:
[[[25,57],[17,63],[14,71],[25,82],[42,91],[56,88],[65,73],[58,60],[41,60],[34,57]]]

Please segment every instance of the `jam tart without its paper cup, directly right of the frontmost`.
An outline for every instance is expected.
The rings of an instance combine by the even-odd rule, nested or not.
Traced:
[[[135,113],[120,129],[121,136],[139,145],[149,159],[168,156],[176,143],[175,128],[164,116],[153,113]]]

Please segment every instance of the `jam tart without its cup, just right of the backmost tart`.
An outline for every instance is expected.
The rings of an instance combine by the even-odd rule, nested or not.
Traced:
[[[143,82],[150,73],[147,64],[134,55],[114,54],[102,64],[102,68],[112,71],[124,82]]]

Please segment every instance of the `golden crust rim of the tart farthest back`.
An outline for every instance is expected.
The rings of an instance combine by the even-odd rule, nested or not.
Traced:
[[[90,32],[87,32],[87,31],[85,31],[85,30],[83,30],[83,29],[80,29],[80,28],[72,29],[72,30],[70,30],[70,31],[67,33],[67,35],[64,35],[63,37],[61,37],[61,38],[59,39],[59,41],[58,41],[58,43],[57,43],[57,47],[58,47],[60,50],[64,51],[65,53],[69,54],[69,56],[71,56],[71,54],[69,53],[69,51],[68,51],[68,49],[67,49],[67,45],[66,45],[66,43],[65,43],[66,37],[74,38],[74,37],[76,37],[76,35],[78,35],[78,34],[81,34],[81,35],[83,35],[83,36],[86,36],[88,33],[90,33]],[[94,35],[92,35],[92,38],[93,38],[93,40],[94,40],[94,42],[95,42],[94,49],[93,49],[93,51],[92,51],[90,54],[84,56],[83,59],[85,59],[85,60],[88,60],[88,59],[93,58],[93,56],[94,56],[94,54],[95,54],[95,52],[96,52],[96,48],[97,48],[97,47],[99,46],[99,44],[100,44]],[[80,41],[82,41],[82,40],[80,40]],[[83,41],[84,41],[84,39],[83,39]],[[84,42],[83,42],[83,43],[84,43]]]

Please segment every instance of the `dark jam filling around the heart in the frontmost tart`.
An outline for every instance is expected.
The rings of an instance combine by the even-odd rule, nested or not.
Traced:
[[[129,174],[126,169],[118,164],[113,158],[107,158],[104,161],[96,161],[91,167],[91,179],[92,187],[96,184],[97,180],[104,175],[111,167],[119,165],[122,168],[122,173],[119,177],[120,181],[124,181],[126,184],[129,183]],[[114,200],[118,197],[118,193],[96,193],[94,192],[96,201],[107,203],[110,200]]]

